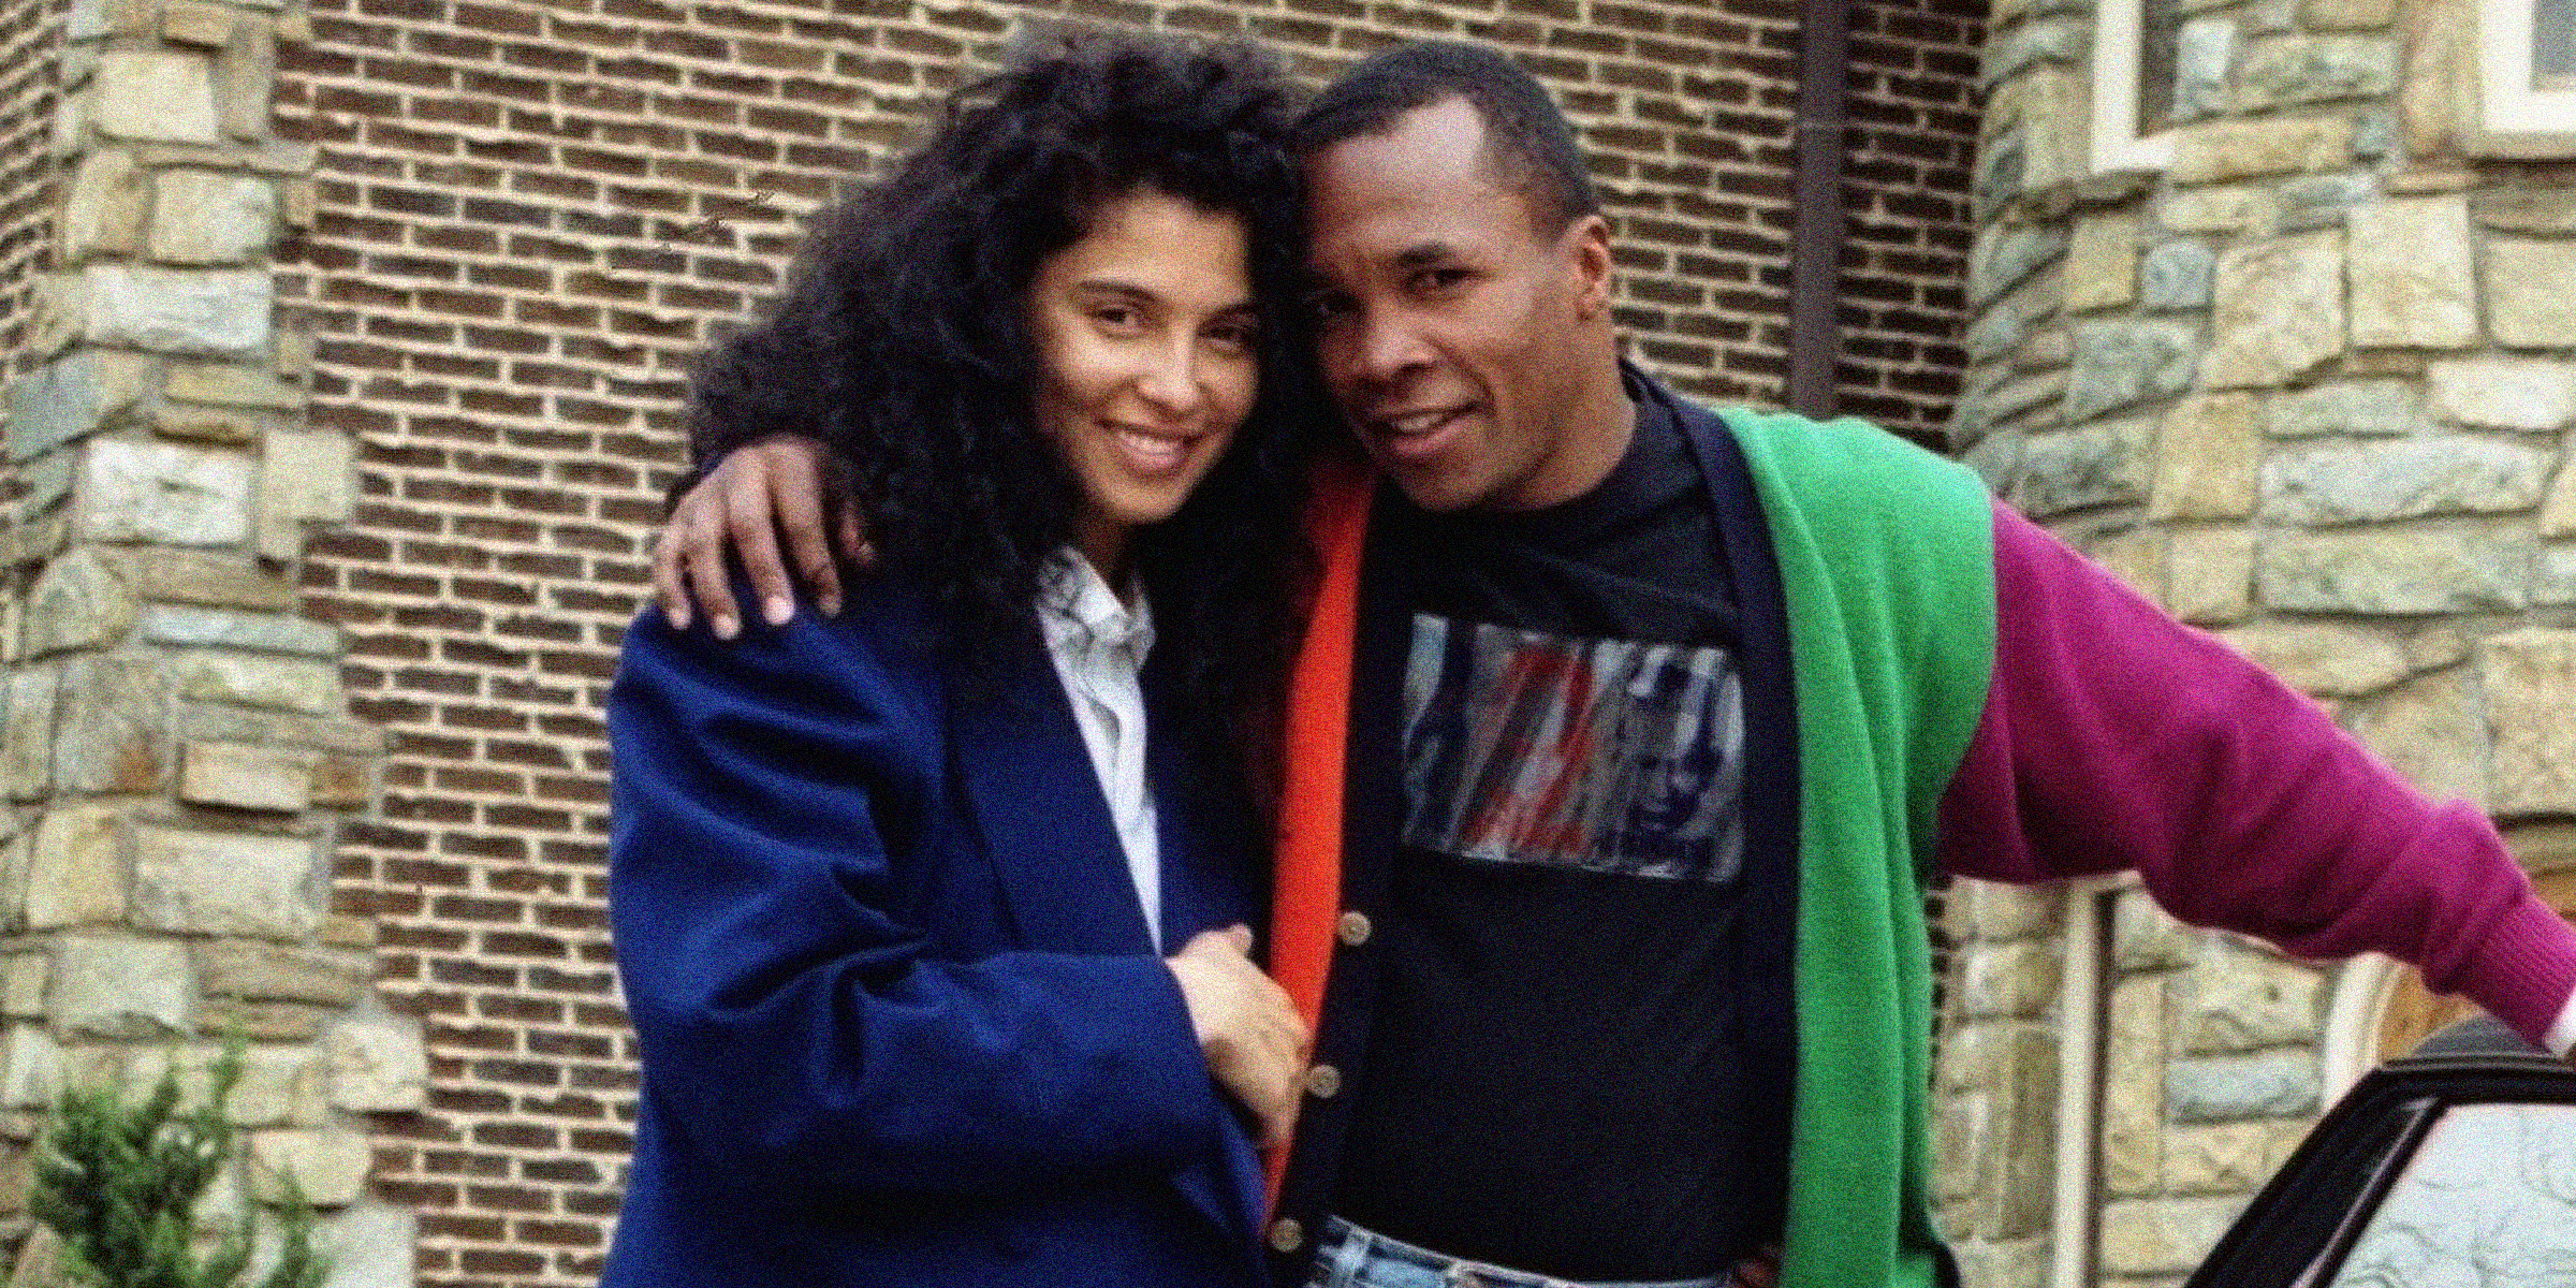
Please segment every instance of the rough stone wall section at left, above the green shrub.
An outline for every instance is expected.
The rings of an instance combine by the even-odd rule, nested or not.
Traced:
[[[33,183],[8,191],[8,263],[36,270],[8,392],[0,1216],[26,1229],[26,1141],[64,1082],[142,1087],[175,1059],[204,1095],[237,1038],[250,1159],[219,1208],[294,1175],[335,1283],[397,1285],[412,1221],[366,1177],[425,1054],[371,989],[376,927],[330,909],[381,734],[348,719],[340,631],[296,595],[307,526],[350,515],[353,453],[304,417],[312,337],[270,281],[312,211],[312,147],[268,129],[276,44],[301,31],[299,8],[209,0],[77,0],[52,49],[15,31],[59,95],[0,144]],[[21,1262],[49,1280],[49,1252]]]

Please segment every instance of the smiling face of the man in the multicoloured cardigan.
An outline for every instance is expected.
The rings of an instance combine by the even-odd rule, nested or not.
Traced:
[[[1525,510],[1595,477],[1574,435],[1600,355],[1607,232],[1564,232],[1494,173],[1484,118],[1443,98],[1311,162],[1309,270],[1324,381],[1425,510]]]

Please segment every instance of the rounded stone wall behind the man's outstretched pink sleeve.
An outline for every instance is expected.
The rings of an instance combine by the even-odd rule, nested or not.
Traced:
[[[2172,167],[2094,175],[2089,5],[1996,5],[1955,438],[2427,791],[2566,814],[2576,157],[2473,155],[2476,5],[2190,10]],[[2097,1265],[2166,1285],[2318,1113],[2334,974],[2138,894],[2115,940]]]

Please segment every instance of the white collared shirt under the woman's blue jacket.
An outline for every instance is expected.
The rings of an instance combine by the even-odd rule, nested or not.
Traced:
[[[1136,587],[1133,605],[1064,549],[1038,580],[1038,629],[1056,680],[1072,701],[1082,744],[1092,752],[1100,796],[1108,799],[1118,845],[1126,850],[1144,925],[1162,948],[1162,842],[1154,835],[1154,791],[1144,773],[1144,654],[1154,647],[1154,613]]]

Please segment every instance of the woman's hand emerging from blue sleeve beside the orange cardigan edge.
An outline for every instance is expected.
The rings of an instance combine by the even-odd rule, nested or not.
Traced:
[[[1298,1092],[1306,1087],[1306,1020],[1260,966],[1252,930],[1226,927],[1195,935],[1167,958],[1190,1028],[1208,1056],[1208,1074],[1262,1121],[1262,1149],[1288,1144]]]

